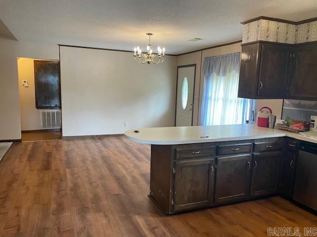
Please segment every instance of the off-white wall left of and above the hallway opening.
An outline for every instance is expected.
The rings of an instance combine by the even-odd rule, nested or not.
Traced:
[[[58,45],[0,37],[0,140],[21,138],[17,57],[58,59]]]

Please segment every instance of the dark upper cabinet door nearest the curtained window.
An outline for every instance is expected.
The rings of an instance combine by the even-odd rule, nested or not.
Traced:
[[[285,98],[291,47],[262,44],[258,96]]]

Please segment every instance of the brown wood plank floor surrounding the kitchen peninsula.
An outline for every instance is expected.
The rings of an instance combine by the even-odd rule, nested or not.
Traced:
[[[271,197],[164,216],[147,196],[150,146],[123,136],[14,143],[0,161],[0,236],[261,237],[316,227]]]

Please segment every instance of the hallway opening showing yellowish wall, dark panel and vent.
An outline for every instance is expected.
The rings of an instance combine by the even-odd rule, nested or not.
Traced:
[[[22,142],[61,139],[59,60],[17,61]]]

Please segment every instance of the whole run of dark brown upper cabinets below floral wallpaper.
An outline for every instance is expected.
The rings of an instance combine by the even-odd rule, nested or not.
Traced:
[[[317,100],[317,42],[242,44],[238,97]]]

